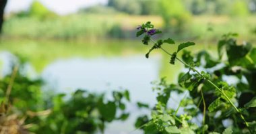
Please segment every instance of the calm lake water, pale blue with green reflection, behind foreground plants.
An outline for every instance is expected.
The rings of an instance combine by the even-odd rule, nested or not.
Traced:
[[[136,102],[156,103],[156,93],[152,92],[150,82],[167,76],[168,82],[176,82],[182,66],[168,64],[169,57],[153,52],[149,59],[145,54],[149,47],[139,41],[90,40],[88,42],[45,42],[4,40],[1,42],[1,74],[10,71],[13,54],[28,60],[28,76],[41,76],[46,84],[44,90],[70,94],[77,88],[92,92],[128,89],[131,112],[128,121],[116,121],[108,125],[106,133],[129,133],[137,115],[147,113],[136,107]],[[197,47],[198,48],[198,47]],[[170,47],[173,50],[173,47]],[[179,102],[180,98],[172,96]],[[140,131],[133,131],[140,133]]]

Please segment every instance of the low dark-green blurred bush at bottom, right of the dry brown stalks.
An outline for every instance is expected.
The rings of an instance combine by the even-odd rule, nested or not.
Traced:
[[[106,123],[125,121],[129,113],[125,111],[125,100],[129,92],[114,91],[113,100],[106,100],[104,94],[94,94],[87,90],[77,90],[65,100],[65,94],[53,96],[46,116],[31,117],[34,123],[30,131],[35,133],[104,133]],[[119,112],[117,112],[119,111]],[[121,111],[121,112],[120,112]]]

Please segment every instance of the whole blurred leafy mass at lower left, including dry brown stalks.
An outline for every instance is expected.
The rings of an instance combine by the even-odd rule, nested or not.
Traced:
[[[104,133],[107,123],[125,121],[129,117],[127,90],[113,91],[111,97],[88,90],[53,94],[41,90],[41,79],[24,76],[22,67],[20,65],[19,70],[13,68],[13,73],[0,80],[0,101],[7,106],[5,110],[1,105],[0,114],[15,115],[24,123],[26,131],[43,134]]]

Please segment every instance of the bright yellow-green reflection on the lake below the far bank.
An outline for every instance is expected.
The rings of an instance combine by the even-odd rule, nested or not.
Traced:
[[[199,50],[215,50],[216,45],[197,43],[196,46],[189,48],[192,52]],[[168,51],[173,52],[176,46],[164,46]],[[40,73],[47,65],[58,59],[66,58],[85,58],[94,59],[99,57],[116,58],[129,57],[140,54],[143,56],[148,52],[150,46],[143,46],[139,40],[84,40],[84,41],[65,41],[65,40],[8,40],[0,42],[0,50],[11,52],[28,60]],[[179,70],[182,70],[181,64],[175,66],[168,64],[170,57],[160,50],[153,52],[151,56],[160,56],[159,78],[166,76],[170,82],[177,81]],[[145,58],[145,60],[147,60]],[[158,70],[156,70],[158,71]]]

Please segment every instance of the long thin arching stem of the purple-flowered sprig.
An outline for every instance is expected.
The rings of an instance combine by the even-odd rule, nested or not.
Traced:
[[[150,38],[150,40],[151,40],[154,44],[156,44],[156,42],[155,42],[152,38]],[[169,52],[167,52],[166,50],[164,50],[164,48],[162,48],[162,47],[160,47],[160,48],[161,48],[161,50],[163,50],[164,52],[166,52],[166,54],[172,56],[172,54],[170,54]],[[204,77],[198,70],[196,70],[193,66],[190,66],[189,64],[183,62],[182,60],[180,60],[180,59],[177,58],[177,57],[176,57],[176,59],[179,60],[179,62],[181,62],[181,63],[184,64],[185,66],[188,66],[191,70],[193,70],[194,72],[196,72],[197,74],[199,74],[201,77],[203,77],[205,80],[207,80],[207,82],[209,82],[210,84],[212,84],[212,86],[214,86],[217,90],[219,90],[219,91],[225,96],[225,98],[228,100],[228,103],[230,103],[230,105],[232,105],[232,107],[235,109],[235,111],[240,115],[241,119],[244,121],[245,125],[246,125],[246,126],[248,127],[248,129],[249,129],[249,124],[248,124],[247,121],[245,120],[245,117],[242,115],[241,111],[239,111],[239,110],[237,109],[237,107],[234,105],[234,103],[232,103],[232,101],[230,100],[230,98],[228,98],[228,96],[226,95],[226,93],[225,93],[223,90],[221,90],[220,88],[218,88],[218,86],[216,86],[216,84],[214,84],[211,80],[205,78],[205,77]],[[250,129],[249,129],[249,132],[252,133]]]

